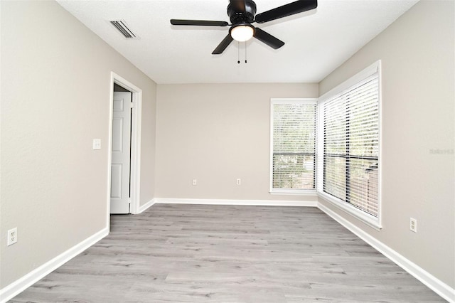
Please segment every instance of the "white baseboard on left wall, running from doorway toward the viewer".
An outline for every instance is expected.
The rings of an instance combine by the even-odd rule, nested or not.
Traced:
[[[27,275],[21,277],[20,279],[14,281],[10,285],[4,287],[0,290],[0,303],[4,303],[9,299],[12,299],[19,293],[23,292],[27,287],[30,287],[34,283],[41,280],[43,277],[48,275],[53,270],[56,270],[61,265],[65,264],[69,260],[73,259],[73,257],[80,254],[90,246],[97,243],[102,238],[105,238],[106,235],[109,234],[109,228],[104,228],[99,232],[95,233],[95,235],[91,235],[89,238],[83,240],[81,243],[73,246],[69,250],[63,252],[62,254],[54,257],[52,260],[45,262],[40,267],[28,272]]]

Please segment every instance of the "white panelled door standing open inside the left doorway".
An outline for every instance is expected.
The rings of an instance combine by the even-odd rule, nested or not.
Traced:
[[[114,92],[112,114],[111,213],[129,213],[131,92]]]

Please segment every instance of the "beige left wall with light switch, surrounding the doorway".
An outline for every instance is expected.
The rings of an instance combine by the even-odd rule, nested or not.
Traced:
[[[0,3],[1,289],[107,226],[111,71],[143,90],[141,204],[154,197],[156,84],[55,1]]]

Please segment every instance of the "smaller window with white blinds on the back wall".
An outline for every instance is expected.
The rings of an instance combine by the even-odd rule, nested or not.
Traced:
[[[272,99],[272,193],[315,191],[316,100]]]

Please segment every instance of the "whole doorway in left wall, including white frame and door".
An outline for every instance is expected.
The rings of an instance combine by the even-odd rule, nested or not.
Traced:
[[[111,213],[139,213],[141,101],[139,87],[111,73],[108,222]]]

